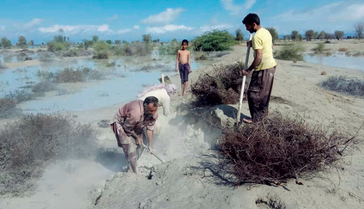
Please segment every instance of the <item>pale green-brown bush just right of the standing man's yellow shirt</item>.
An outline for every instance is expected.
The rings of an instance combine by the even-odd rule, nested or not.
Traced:
[[[275,58],[292,61],[303,61],[304,48],[300,44],[286,44],[275,53]]]

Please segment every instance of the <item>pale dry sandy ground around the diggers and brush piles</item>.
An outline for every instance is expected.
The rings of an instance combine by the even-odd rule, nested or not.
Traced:
[[[349,48],[347,46],[355,51],[364,51],[363,43],[340,42],[327,45],[333,51],[341,47]],[[314,47],[314,43],[305,44],[306,49],[311,47]],[[245,54],[246,47],[236,46],[230,54],[216,59],[217,63],[214,65],[242,61]],[[249,60],[252,61],[252,55]],[[198,71],[190,74],[190,81],[196,81],[201,73],[211,70],[213,70],[213,65],[199,68]],[[326,71],[327,75],[320,75],[321,71]],[[363,71],[277,60],[272,93],[275,99],[272,97],[270,109],[285,114],[298,113],[309,124],[324,126],[336,124],[340,127],[359,128],[364,122],[364,99],[323,90],[317,86],[320,79],[334,75],[364,78]],[[176,84],[180,83],[178,75],[172,77],[171,80]],[[279,98],[285,100],[286,104],[279,102],[281,101]],[[3,199],[0,200],[0,208],[62,208],[61,205],[66,206],[63,208],[74,209],[87,207],[97,209],[263,209],[268,207],[265,204],[256,204],[255,201],[267,195],[277,198],[289,209],[363,208],[364,152],[359,149],[352,156],[345,158],[346,164],[342,166],[342,169],[322,174],[322,178],[302,180],[304,185],[297,185],[294,181],[288,182],[285,187],[221,185],[221,180],[216,178],[216,171],[201,163],[214,160],[204,156],[212,152],[208,149],[216,142],[219,131],[208,127],[203,119],[191,114],[193,109],[189,106],[190,99],[190,95],[182,97],[176,94],[172,97],[172,114],[169,117],[161,115],[159,118],[162,130],[159,135],[155,136],[153,146],[155,153],[165,159],[167,163],[161,164],[155,157],[144,153],[138,161],[141,171],[139,175],[120,172],[126,165],[122,150],[116,148],[115,136],[111,130],[99,128],[97,125],[101,120],[111,120],[122,104],[97,110],[74,112],[78,116],[79,122],[91,123],[100,132],[98,135],[100,145],[115,148],[116,152],[114,157],[105,157],[105,160],[99,161],[99,164],[96,163],[97,165],[87,167],[85,163],[87,169],[83,170],[83,167],[79,166],[70,179],[87,179],[92,173],[102,171],[104,168],[112,171],[113,175],[108,179],[99,175],[98,178],[91,178],[89,184],[81,182],[78,184],[82,187],[78,190],[79,196],[69,195],[75,191],[76,188],[71,185],[76,182],[55,180],[49,183],[53,190],[40,186],[38,196],[35,195],[28,199]],[[249,116],[247,103],[243,103],[242,111],[244,115]],[[364,135],[363,133],[362,130],[361,136]],[[53,169],[54,166],[51,166],[47,172],[52,172]],[[105,171],[107,175],[109,175],[108,171]],[[44,185],[46,182],[47,180],[41,180],[40,184]],[[90,182],[93,184],[91,187]],[[88,189],[85,188],[86,185],[89,185]],[[57,198],[50,195],[50,191],[55,193],[54,191],[64,190],[70,193],[56,192],[59,194]],[[47,193],[48,196],[45,195]],[[88,195],[89,198],[87,199],[85,195]],[[74,201],[75,204],[63,205],[69,201]],[[30,204],[30,202],[45,202],[48,205]],[[96,206],[94,206],[95,202],[97,202]]]

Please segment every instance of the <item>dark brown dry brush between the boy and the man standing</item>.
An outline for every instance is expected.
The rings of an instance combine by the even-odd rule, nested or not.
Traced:
[[[196,82],[191,84],[192,95],[201,104],[236,104],[240,98],[243,68],[244,64],[238,62],[233,65],[220,65],[212,73],[201,75]],[[246,95],[250,76],[246,78],[244,95]]]

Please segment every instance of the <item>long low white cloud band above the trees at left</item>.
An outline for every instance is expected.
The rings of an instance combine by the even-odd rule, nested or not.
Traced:
[[[54,25],[51,27],[40,27],[39,31],[42,33],[55,33],[63,30],[65,33],[77,34],[77,33],[85,33],[91,31],[98,31],[98,32],[112,32],[109,29],[108,25],[79,25],[79,26],[60,26]]]

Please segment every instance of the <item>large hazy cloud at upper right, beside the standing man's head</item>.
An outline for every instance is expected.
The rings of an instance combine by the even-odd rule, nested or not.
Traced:
[[[339,1],[310,10],[291,9],[268,18],[264,26],[282,28],[278,33],[289,34],[292,30],[303,33],[308,29],[333,33],[335,30],[351,32],[353,25],[364,18],[364,2]]]

